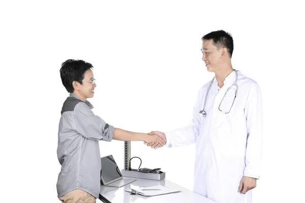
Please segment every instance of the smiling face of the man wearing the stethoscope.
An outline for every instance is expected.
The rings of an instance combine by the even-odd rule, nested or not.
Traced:
[[[213,40],[204,40],[202,42],[202,60],[209,72],[217,72],[220,69],[222,49],[217,50]]]

